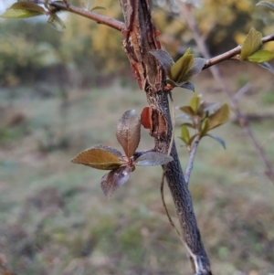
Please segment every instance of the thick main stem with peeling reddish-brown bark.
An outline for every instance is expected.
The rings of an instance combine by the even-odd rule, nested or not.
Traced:
[[[150,107],[150,133],[155,149],[168,153],[172,142],[172,120],[169,111],[168,92],[165,89],[166,75],[150,50],[161,48],[156,37],[158,30],[153,26],[148,0],[120,0],[126,30],[122,31],[123,48],[128,55],[132,74],[140,89],[144,90]],[[180,221],[185,247],[190,254],[196,275],[210,275],[210,263],[197,227],[192,198],[184,181],[175,143],[171,155],[174,161],[163,165],[163,171],[171,190],[177,216]]]

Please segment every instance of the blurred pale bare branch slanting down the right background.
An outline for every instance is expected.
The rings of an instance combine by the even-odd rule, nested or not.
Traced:
[[[193,37],[195,38],[195,42],[197,43],[198,48],[200,48],[200,51],[202,55],[206,59],[210,59],[210,55],[208,52],[208,49],[205,45],[205,40],[200,35],[198,28],[195,24],[195,18],[192,14],[192,5],[186,5],[182,2],[178,2],[180,12],[184,16],[184,19],[192,31]],[[237,106],[237,99],[233,97],[231,90],[228,89],[228,86],[225,82],[225,79],[223,79],[220,70],[215,67],[209,68],[213,77],[216,79],[216,81],[219,83],[219,85],[222,87],[222,90],[225,91],[225,94],[227,95],[227,99],[230,102],[230,106],[232,107],[232,110],[235,112],[237,121],[242,126],[244,131],[246,132],[249,140],[253,144],[256,152],[258,153],[258,156],[260,157],[262,163],[265,166],[265,174],[269,177],[269,180],[274,184],[274,172],[272,169],[272,165],[270,164],[269,160],[266,157],[266,154],[264,153],[263,148],[258,143],[258,140],[254,136],[251,128],[248,125],[248,120],[245,118],[244,114],[240,111],[240,109]]]

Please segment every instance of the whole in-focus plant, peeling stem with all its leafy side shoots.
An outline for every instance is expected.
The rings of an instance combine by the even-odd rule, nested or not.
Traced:
[[[59,11],[68,11],[121,31],[122,45],[130,60],[132,74],[138,81],[140,89],[144,90],[149,105],[143,109],[141,119],[136,111],[130,110],[124,112],[118,122],[116,136],[125,154],[110,146],[100,144],[79,153],[72,162],[97,169],[111,170],[101,179],[101,187],[106,196],[111,196],[130,178],[135,165],[161,164],[174,199],[182,238],[189,252],[194,273],[195,275],[212,275],[210,262],[195,219],[192,197],[173,140],[174,129],[169,110],[169,95],[174,87],[195,90],[190,82],[195,74],[230,58],[265,64],[273,58],[272,53],[261,52],[259,47],[262,43],[274,40],[274,35],[262,38],[255,29],[251,29],[247,37],[247,41],[251,39],[251,47],[247,42],[246,45],[238,46],[224,55],[208,60],[195,58],[191,49],[187,49],[184,56],[174,62],[169,54],[161,49],[160,42],[156,38],[159,31],[153,26],[148,0],[120,0],[124,23],[94,13],[96,7],[90,11],[86,6],[78,8],[70,5],[68,0],[63,0],[63,2],[46,0],[42,7],[37,5],[36,1],[17,2],[7,9],[2,17],[22,18],[46,15],[49,16],[47,22],[51,26],[63,30],[65,25],[57,14]],[[267,4],[264,3],[264,5]],[[272,9],[273,5],[269,7]],[[255,40],[252,37],[255,37]],[[269,65],[264,67],[270,69]],[[186,146],[191,148],[195,139],[200,140],[205,136],[212,137],[225,146],[220,138],[208,132],[227,122],[229,114],[227,104],[216,110],[215,103],[205,103],[195,94],[189,105],[182,107],[181,111],[184,111],[191,121],[182,125],[181,138]],[[150,130],[155,144],[153,151],[136,153],[140,142],[141,124]],[[188,127],[195,129],[192,136]],[[193,166],[196,148],[193,150],[187,170],[189,171],[186,175],[187,180],[189,180]]]

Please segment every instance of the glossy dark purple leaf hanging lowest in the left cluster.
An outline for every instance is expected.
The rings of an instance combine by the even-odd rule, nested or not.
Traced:
[[[124,185],[131,177],[132,168],[131,166],[121,166],[116,170],[112,170],[108,174],[104,175],[100,180],[100,187],[105,196],[110,196],[117,190],[121,185]]]

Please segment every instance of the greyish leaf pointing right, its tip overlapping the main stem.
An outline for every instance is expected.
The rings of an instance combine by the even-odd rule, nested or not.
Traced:
[[[134,164],[139,166],[155,166],[167,164],[173,160],[173,157],[164,153],[147,152],[142,153],[142,155],[134,161]]]

